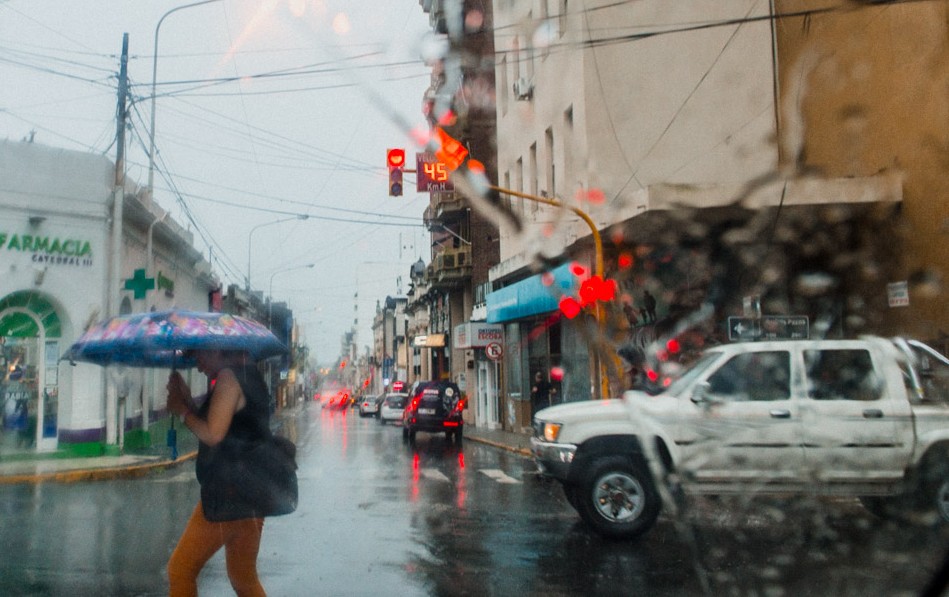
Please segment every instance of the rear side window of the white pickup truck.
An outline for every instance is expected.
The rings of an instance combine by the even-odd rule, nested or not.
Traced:
[[[879,400],[881,383],[866,350],[806,350],[807,395],[815,400]]]

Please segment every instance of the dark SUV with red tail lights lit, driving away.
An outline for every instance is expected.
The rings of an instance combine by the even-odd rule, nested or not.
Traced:
[[[464,436],[465,398],[450,381],[426,381],[412,391],[402,414],[402,439],[415,441],[416,431],[444,432],[460,444]]]

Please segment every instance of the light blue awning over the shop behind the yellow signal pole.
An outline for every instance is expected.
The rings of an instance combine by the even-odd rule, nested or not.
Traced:
[[[575,295],[579,286],[570,265],[565,263],[548,272],[553,276],[549,286],[544,284],[544,274],[537,274],[488,294],[488,323],[556,311],[560,298],[565,294]]]

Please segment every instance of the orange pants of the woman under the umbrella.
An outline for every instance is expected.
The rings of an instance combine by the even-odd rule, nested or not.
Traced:
[[[199,501],[168,560],[170,597],[196,596],[198,574],[221,546],[234,591],[241,596],[266,596],[257,578],[257,552],[263,530],[263,518],[210,522]]]

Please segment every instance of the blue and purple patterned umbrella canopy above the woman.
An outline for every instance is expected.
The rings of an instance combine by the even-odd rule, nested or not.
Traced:
[[[227,313],[158,311],[100,322],[63,354],[63,360],[97,365],[186,369],[188,350],[242,350],[254,360],[287,352],[263,325]]]

